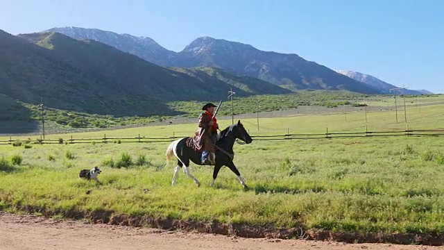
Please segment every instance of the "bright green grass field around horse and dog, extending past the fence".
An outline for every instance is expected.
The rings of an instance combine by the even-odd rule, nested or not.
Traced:
[[[408,109],[409,127],[442,128],[444,105]],[[345,115],[288,115],[242,119],[251,135],[404,129],[390,111]],[[220,120],[225,128],[231,120]],[[196,124],[106,131],[107,137],[192,135]],[[101,132],[47,135],[100,138]],[[17,138],[26,140],[28,136]],[[34,140],[34,138],[31,138]],[[234,145],[250,190],[222,169],[191,165],[200,188],[174,163],[164,167],[169,142],[28,144],[0,146],[0,209],[57,217],[102,211],[117,215],[194,219],[200,222],[325,229],[339,232],[444,233],[444,145],[441,136],[254,140]],[[101,184],[78,180],[98,165]]]

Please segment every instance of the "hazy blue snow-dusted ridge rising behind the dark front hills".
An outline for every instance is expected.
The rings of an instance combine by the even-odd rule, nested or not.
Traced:
[[[355,81],[323,65],[305,60],[297,54],[260,51],[240,42],[200,37],[182,51],[175,52],[165,49],[151,38],[98,29],[62,27],[51,28],[48,31],[62,33],[77,40],[103,42],[156,65],[213,67],[259,78],[289,90],[350,90],[366,94],[381,93],[371,85]]]

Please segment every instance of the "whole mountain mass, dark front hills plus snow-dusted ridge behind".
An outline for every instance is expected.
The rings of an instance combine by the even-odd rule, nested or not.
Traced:
[[[175,52],[151,38],[98,29],[0,30],[4,100],[100,115],[177,115],[169,101],[224,99],[230,88],[246,97],[307,89],[385,94],[393,86],[370,78],[210,37]]]

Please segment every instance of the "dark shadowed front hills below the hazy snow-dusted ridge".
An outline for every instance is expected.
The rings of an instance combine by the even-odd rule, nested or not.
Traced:
[[[62,110],[117,116],[175,115],[168,101],[285,94],[257,78],[201,67],[189,72],[149,63],[94,40],[60,33],[0,31],[0,94]]]

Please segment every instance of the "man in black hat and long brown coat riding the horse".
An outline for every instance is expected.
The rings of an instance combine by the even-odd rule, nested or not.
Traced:
[[[217,140],[217,129],[219,125],[216,122],[216,117],[213,117],[214,107],[213,103],[207,103],[202,107],[205,113],[200,114],[198,122],[198,130],[196,131],[196,136],[194,137],[194,145],[198,151],[202,150],[201,163],[207,165],[215,164],[216,156],[214,152],[216,149],[214,144]]]

